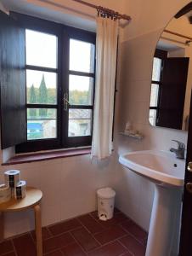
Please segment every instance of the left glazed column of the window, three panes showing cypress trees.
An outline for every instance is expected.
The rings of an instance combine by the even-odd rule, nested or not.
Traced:
[[[57,49],[56,36],[25,30],[27,141],[57,137]]]

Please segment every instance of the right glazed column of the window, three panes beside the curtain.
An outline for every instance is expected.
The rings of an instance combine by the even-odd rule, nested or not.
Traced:
[[[94,45],[71,38],[68,137],[92,134],[93,84]]]

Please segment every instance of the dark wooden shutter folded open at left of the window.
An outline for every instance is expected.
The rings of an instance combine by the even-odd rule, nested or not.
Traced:
[[[26,141],[25,29],[0,12],[1,146]]]

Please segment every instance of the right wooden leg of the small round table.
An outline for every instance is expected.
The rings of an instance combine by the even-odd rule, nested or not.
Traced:
[[[37,256],[42,256],[42,218],[40,205],[34,207],[36,221]]]

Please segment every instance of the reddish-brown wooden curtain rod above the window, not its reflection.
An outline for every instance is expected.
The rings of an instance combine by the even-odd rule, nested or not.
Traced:
[[[105,15],[110,15],[112,17],[115,17],[118,20],[131,20],[130,16],[128,16],[128,15],[121,15],[121,14],[119,14],[118,12],[116,12],[113,9],[107,9],[107,8],[102,7],[102,6],[95,5],[93,3],[88,3],[88,2],[82,1],[82,0],[71,0],[71,1],[74,1],[76,3],[82,3],[84,5],[87,5],[88,7],[91,7],[93,9],[97,9],[101,13],[104,13]]]

